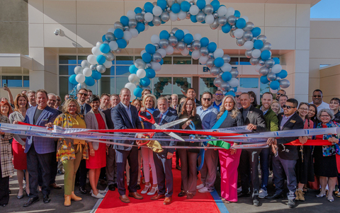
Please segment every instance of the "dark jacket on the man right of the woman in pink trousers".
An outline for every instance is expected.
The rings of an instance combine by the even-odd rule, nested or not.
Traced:
[[[244,108],[239,109],[241,115],[243,110]],[[256,129],[253,130],[253,132],[266,132],[266,121],[264,120],[263,112],[257,108],[254,108],[253,105],[250,106],[248,115],[246,115],[246,120],[244,120],[244,125],[249,124],[256,125]]]

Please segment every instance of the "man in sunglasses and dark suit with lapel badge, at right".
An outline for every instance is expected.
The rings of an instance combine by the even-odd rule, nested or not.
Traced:
[[[302,118],[297,115],[297,100],[290,98],[283,105],[283,113],[278,114],[278,125],[280,130],[292,130],[303,129],[304,123]],[[283,195],[283,187],[285,178],[287,178],[287,188],[289,192],[288,207],[295,207],[295,191],[297,186],[297,180],[295,175],[296,160],[299,159],[296,146],[284,145],[289,142],[293,142],[298,137],[282,137],[278,139],[269,138],[268,145],[278,146],[278,155],[273,156],[273,172],[274,172],[274,184],[276,192],[270,199],[277,199]]]

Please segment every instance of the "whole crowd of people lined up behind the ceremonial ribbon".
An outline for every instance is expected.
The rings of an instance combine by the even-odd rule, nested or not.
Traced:
[[[81,88],[77,98],[67,95],[62,104],[60,96],[43,89],[22,91],[15,98],[8,88],[5,90],[8,99],[1,98],[1,123],[23,122],[48,129],[54,125],[86,129],[154,129],[152,123],[140,119],[139,113],[145,117],[152,114],[158,125],[188,119],[174,125],[174,129],[246,126],[250,132],[275,132],[340,127],[340,99],[332,98],[329,104],[324,103],[322,91],[318,89],[312,94],[312,103],[299,104],[280,90],[276,94],[263,93],[261,105],[258,105],[254,92],[237,92],[234,97],[224,96],[217,90],[214,94],[204,92],[198,100],[193,88],[188,88],[185,98],[180,101],[177,94],[157,99],[145,89],[142,98],[132,102],[128,88],[123,88],[119,95],[103,93],[100,97]],[[162,146],[186,146],[186,149],[164,148],[162,152],[154,152],[148,146],[140,145],[140,140],[123,139],[127,136],[145,137],[141,133],[116,132],[115,135],[122,136],[122,139],[114,140],[114,145],[83,139],[0,134],[1,206],[8,204],[9,177],[13,175],[13,168],[18,175],[17,198],[22,199],[24,194],[29,197],[23,207],[38,202],[39,192],[42,192],[43,202],[50,202],[50,188],[62,188],[55,183],[58,172],[64,174],[65,206],[81,200],[74,192],[75,185],[79,185],[82,194],[91,193],[92,197],[103,198],[106,191],[98,190],[98,183],[107,183],[111,191],[117,188],[121,202],[130,202],[129,197],[142,200],[149,195],[149,199],[163,199],[164,205],[169,205],[174,191],[171,171],[174,153],[176,168],[181,170],[181,192],[177,196],[186,199],[192,199],[196,192],[214,191],[217,173],[221,176],[221,199],[226,203],[237,202],[238,197],[251,197],[253,205],[260,206],[261,198],[279,199],[284,196],[285,180],[290,208],[295,207],[295,201],[305,201],[310,183],[315,183],[314,190],[319,190],[316,197],[326,197],[329,202],[333,202],[335,196],[340,197],[340,148],[339,135],[336,134],[268,138],[269,147],[264,149],[206,149],[204,159],[200,149],[196,148],[201,146],[200,142],[162,140],[167,136],[164,132],[154,134]],[[182,137],[191,136],[183,134]],[[328,140],[331,145],[285,145],[294,140],[305,144],[310,139]],[[197,165],[201,165],[199,172]],[[268,195],[271,171],[275,193]],[[86,189],[87,178],[90,192]],[[140,193],[137,190],[141,190]]]

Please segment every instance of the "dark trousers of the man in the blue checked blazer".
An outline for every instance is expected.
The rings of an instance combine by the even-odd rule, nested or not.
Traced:
[[[39,197],[38,195],[38,177],[39,170],[42,179],[42,195],[50,195],[50,180],[51,180],[51,163],[52,154],[38,154],[35,151],[34,144],[30,146],[27,153],[27,170],[30,181],[30,197]]]

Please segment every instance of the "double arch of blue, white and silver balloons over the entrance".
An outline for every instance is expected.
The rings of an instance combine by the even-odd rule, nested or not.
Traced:
[[[212,30],[222,30],[236,38],[239,46],[246,49],[246,57],[256,71],[261,74],[261,83],[269,84],[271,91],[287,88],[290,82],[285,79],[288,73],[280,65],[280,59],[271,58],[271,43],[266,42],[266,36],[261,35],[261,29],[254,27],[249,18],[241,16],[234,8],[220,5],[213,0],[157,0],[147,2],[144,8],[137,7],[120,17],[114,27],[103,35],[102,42],[97,42],[87,60],[81,62],[81,67],[75,67],[74,74],[69,76],[77,89],[94,86],[95,80],[101,79],[101,74],[112,66],[115,58],[113,53],[120,53],[127,47],[129,40],[152,26],[159,26],[167,21],[190,19],[193,23],[210,25]],[[166,54],[176,50],[183,55],[190,54],[193,59],[199,59],[200,64],[210,68],[210,74],[216,76],[214,85],[220,87],[226,94],[234,96],[239,84],[238,71],[229,64],[230,57],[222,49],[217,49],[215,42],[202,38],[200,34],[191,35],[188,30],[174,28],[171,32],[162,30],[159,35],[152,35],[152,44],[142,50],[142,59],[135,60],[129,68],[130,81],[125,85],[135,97],[142,96],[142,90],[149,88],[151,79],[161,70]],[[135,98],[133,97],[133,98]]]

